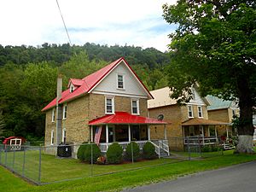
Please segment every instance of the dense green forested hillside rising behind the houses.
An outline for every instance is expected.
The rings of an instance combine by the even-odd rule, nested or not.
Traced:
[[[55,97],[56,78],[63,90],[70,78],[84,78],[124,56],[148,90],[167,85],[169,57],[157,49],[84,44],[0,45],[0,137],[44,137],[41,109]]]

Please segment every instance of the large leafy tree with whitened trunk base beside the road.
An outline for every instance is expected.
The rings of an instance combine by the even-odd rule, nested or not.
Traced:
[[[164,19],[178,24],[170,35],[170,86],[178,98],[198,82],[202,96],[238,102],[236,151],[253,153],[256,97],[256,2],[254,0],[178,0],[163,6]],[[175,78],[174,78],[175,75]],[[183,96],[188,101],[189,96]],[[238,100],[238,101],[237,101]]]

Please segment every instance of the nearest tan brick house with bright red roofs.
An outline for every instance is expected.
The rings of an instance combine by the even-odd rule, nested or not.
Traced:
[[[149,125],[166,124],[148,118],[147,101],[153,96],[124,58],[84,79],[70,79],[67,90],[61,91],[61,79],[58,82],[57,97],[42,109],[45,146],[95,142],[106,152],[113,142],[125,149],[133,140],[142,148],[151,140]]]

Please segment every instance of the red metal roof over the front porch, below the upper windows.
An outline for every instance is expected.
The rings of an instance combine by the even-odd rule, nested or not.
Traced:
[[[157,119],[145,118],[142,116],[132,115],[126,112],[116,112],[107,114],[101,118],[89,121],[89,125],[106,125],[106,124],[147,124],[147,125],[164,125],[165,121]]]

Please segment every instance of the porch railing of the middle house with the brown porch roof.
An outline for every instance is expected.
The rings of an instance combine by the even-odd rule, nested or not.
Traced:
[[[215,143],[218,143],[218,137],[184,137],[185,145],[211,145]]]

